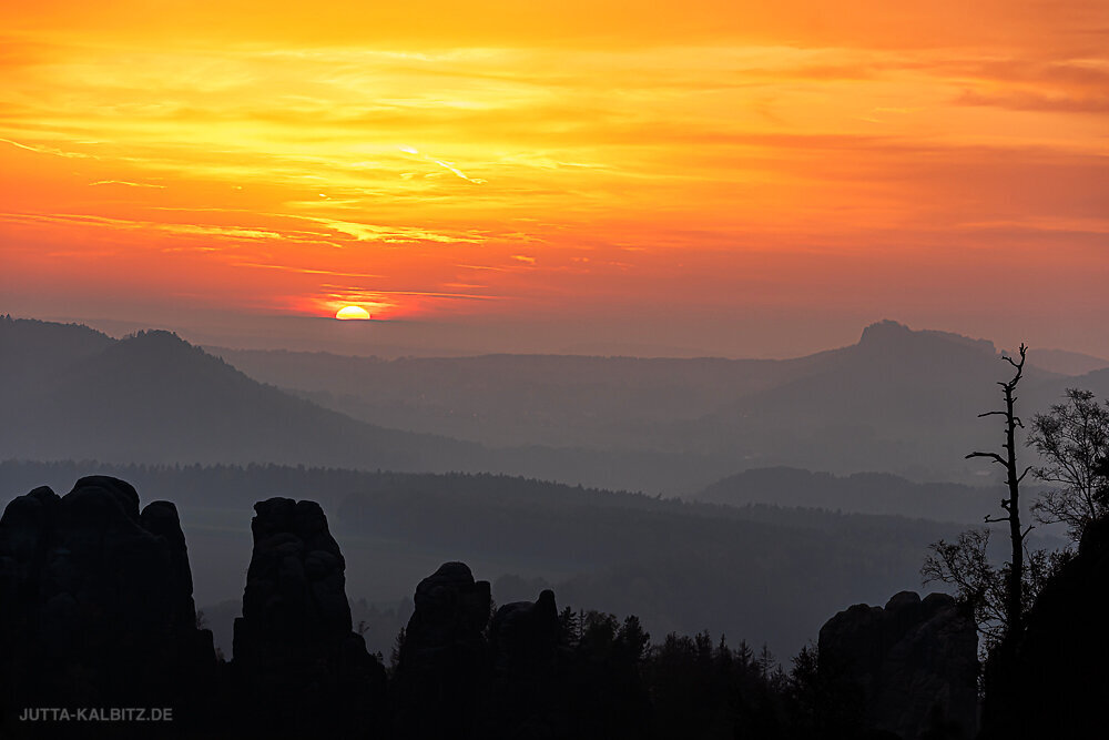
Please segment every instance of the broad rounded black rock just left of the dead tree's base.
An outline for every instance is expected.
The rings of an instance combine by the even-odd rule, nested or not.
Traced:
[[[825,622],[820,666],[857,686],[873,730],[904,740],[971,738],[977,648],[975,624],[952,597],[902,591],[885,608],[858,604]]]

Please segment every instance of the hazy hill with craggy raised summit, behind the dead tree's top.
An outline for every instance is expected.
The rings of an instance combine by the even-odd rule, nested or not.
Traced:
[[[671,434],[686,448],[732,449],[746,467],[970,480],[985,466],[963,456],[996,436],[975,416],[997,404],[996,382],[1006,372],[998,357],[989,342],[881,322],[858,344],[827,353],[812,373],[675,424]],[[1055,379],[1029,369],[1022,401]],[[1035,408],[1026,403],[1021,413]]]

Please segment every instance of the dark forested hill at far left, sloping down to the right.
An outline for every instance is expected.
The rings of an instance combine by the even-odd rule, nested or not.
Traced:
[[[291,397],[166,332],[113,341],[58,326],[0,325],[6,359],[39,368],[4,373],[0,447],[8,457],[447,470],[467,469],[482,454]]]

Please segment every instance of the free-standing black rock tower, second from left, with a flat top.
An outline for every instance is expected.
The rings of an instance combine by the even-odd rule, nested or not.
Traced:
[[[352,630],[346,564],[323,509],[288,498],[254,509],[231,666],[236,723],[256,737],[378,737],[385,669]]]

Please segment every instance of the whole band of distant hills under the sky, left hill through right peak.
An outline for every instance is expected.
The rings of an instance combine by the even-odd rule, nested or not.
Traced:
[[[0,348],[14,358],[0,367],[9,457],[488,470],[674,495],[774,466],[988,483],[989,466],[964,455],[995,438],[976,416],[1007,373],[988,341],[891,321],[779,361],[216,359],[167,333],[116,341],[11,318]],[[1032,366],[1035,353],[1026,417],[1072,385],[1109,395],[1109,369],[1060,376]]]

